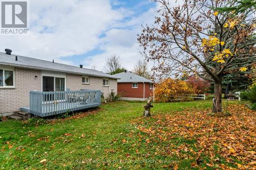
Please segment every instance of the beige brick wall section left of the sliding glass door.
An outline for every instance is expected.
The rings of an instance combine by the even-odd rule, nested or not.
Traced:
[[[0,88],[0,113],[29,106],[30,90],[41,90],[41,71],[15,68],[15,88]]]

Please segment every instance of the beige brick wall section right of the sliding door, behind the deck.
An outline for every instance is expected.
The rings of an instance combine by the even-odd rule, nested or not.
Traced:
[[[113,89],[117,93],[117,80],[110,79],[110,86],[103,87],[103,78],[89,77],[90,84],[82,84],[82,76],[67,74],[67,88],[70,90],[101,90],[104,92],[105,98],[109,96],[111,90]]]

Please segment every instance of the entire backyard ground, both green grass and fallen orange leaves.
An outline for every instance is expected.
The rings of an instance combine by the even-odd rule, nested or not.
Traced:
[[[255,112],[233,102],[117,102],[69,118],[0,123],[0,169],[253,169]]]

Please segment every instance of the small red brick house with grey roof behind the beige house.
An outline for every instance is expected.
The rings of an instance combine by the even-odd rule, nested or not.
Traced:
[[[113,76],[119,78],[117,92],[121,95],[122,100],[145,101],[148,97],[153,96],[153,81],[126,70]]]

